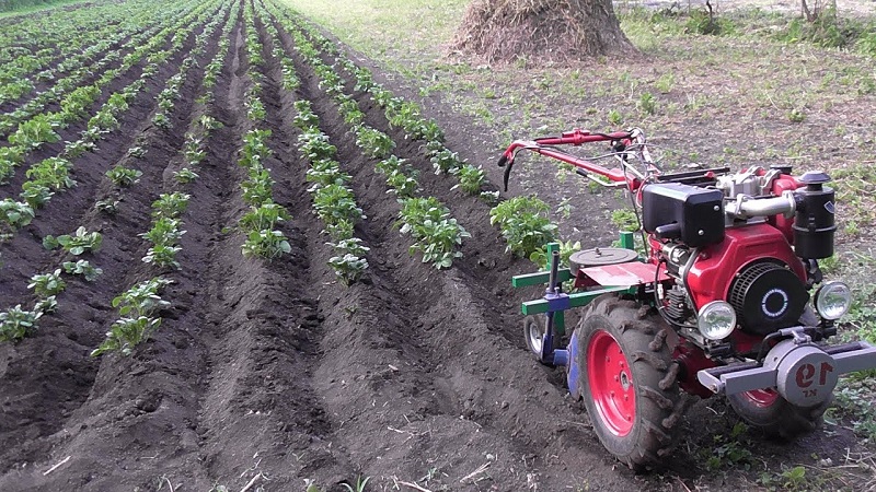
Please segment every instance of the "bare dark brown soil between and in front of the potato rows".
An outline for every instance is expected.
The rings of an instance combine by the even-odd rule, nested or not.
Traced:
[[[292,253],[269,263],[242,257],[234,224],[245,210],[238,185],[244,173],[235,152],[252,124],[243,106],[251,82],[241,21],[214,104],[194,103],[203,74],[194,68],[174,109],[177,130],[150,125],[154,95],[183,57],[173,58],[124,116],[123,130],[74,163],[78,186],[0,245],[5,308],[28,302],[30,276],[68,259],[42,248],[46,234],[84,225],[104,236],[101,251],[87,257],[103,269],[101,279],[70,280],[57,315],[44,317],[39,330],[20,343],[0,345],[0,490],[207,491],[252,482],[250,490],[293,491],[313,479],[334,491],[358,476],[371,477],[367,490],[415,490],[402,482],[433,491],[750,490],[761,464],[781,472],[783,464],[811,464],[811,454],[840,462],[846,449],[862,450],[840,426],[789,445],[752,436],[751,470],[740,465],[713,473],[705,468],[711,443],[738,422],[714,399],[689,413],[669,471],[634,476],[624,469],[602,449],[580,403],[570,401],[560,371],[540,365],[523,348],[519,302],[539,293],[514,292],[509,279],[532,266],[504,253],[489,207],[452,190],[450,178],[435,176],[419,144],[404,140],[366,94],[356,93],[368,124],[393,137],[396,154],[418,168],[425,192],[447,203],[472,234],[464,257],[449,270],[412,258],[407,239],[393,226],[397,204],[334,103],[298,58],[302,86],[296,93],[279,89],[279,63],[268,50],[268,167],[276,200],[293,215],[284,227]],[[257,27],[264,42],[266,31]],[[295,57],[291,39],[284,34],[281,40]],[[394,89],[383,75],[377,79]],[[326,266],[332,250],[310,212],[307,163],[291,125],[296,99],[312,102],[368,215],[357,236],[371,248],[371,267],[367,280],[350,288]],[[441,122],[448,147],[484,163],[493,183],[500,183],[492,166],[496,150],[472,145],[479,129],[435,103],[425,102],[427,116]],[[183,268],[166,272],[175,283],[163,294],[172,306],[134,355],[93,359],[89,352],[115,319],[112,297],[155,273],[139,260],[147,244],[137,234],[148,229],[158,195],[178,189],[170,177],[182,160],[178,129],[205,113],[224,127],[209,139],[200,179],[186,188],[192,200],[177,257]],[[135,142],[147,149],[142,162],[126,157]],[[31,159],[59,150],[47,145]],[[143,176],[124,190],[116,215],[99,214],[94,202],[112,192],[103,173],[118,162]],[[0,198],[21,187],[23,174],[0,189]],[[585,247],[610,241],[606,224],[588,219],[585,209],[578,213]],[[860,490],[861,483],[848,487]]]

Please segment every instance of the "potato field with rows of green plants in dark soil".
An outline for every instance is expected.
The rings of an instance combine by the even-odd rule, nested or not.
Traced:
[[[0,20],[0,490],[687,489],[526,350],[535,267],[435,117],[274,0]]]

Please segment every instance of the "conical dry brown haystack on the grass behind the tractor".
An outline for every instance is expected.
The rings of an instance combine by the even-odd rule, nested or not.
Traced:
[[[474,0],[453,48],[489,62],[568,62],[634,52],[611,0]]]

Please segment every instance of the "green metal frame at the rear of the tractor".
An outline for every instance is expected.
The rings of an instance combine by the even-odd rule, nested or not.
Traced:
[[[621,233],[621,247],[626,249],[635,249],[633,242],[633,233],[631,232]],[[511,285],[515,288],[525,288],[525,286],[548,284],[551,278],[550,258],[553,255],[553,251],[555,250],[560,250],[560,244],[549,243],[548,244],[549,263],[544,266],[544,270],[538,271],[535,273],[525,273],[522,276],[515,276],[514,278],[511,278]],[[573,280],[575,276],[572,274],[572,271],[568,268],[561,268],[557,271],[558,282],[566,282],[568,280]],[[586,292],[576,292],[568,295],[568,301],[569,301],[568,308],[586,306],[600,295],[612,292],[635,292],[635,288],[604,286],[601,289],[589,290]],[[520,311],[525,315],[537,315],[537,314],[548,313],[551,309],[549,307],[548,300],[537,298],[533,301],[525,302],[520,306]],[[556,331],[556,335],[564,335],[566,332],[565,312],[557,311],[556,313],[554,313],[554,330]]]

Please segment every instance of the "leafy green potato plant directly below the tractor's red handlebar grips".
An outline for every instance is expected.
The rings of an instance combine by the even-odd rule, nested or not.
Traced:
[[[535,197],[515,197],[489,211],[489,223],[498,224],[508,244],[506,251],[529,258],[556,241],[557,226],[548,219],[549,207]]]

